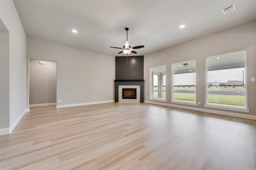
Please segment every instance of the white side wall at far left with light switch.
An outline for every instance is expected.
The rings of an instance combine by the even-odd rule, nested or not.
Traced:
[[[10,120],[6,121],[12,131],[26,113],[26,34],[13,1],[0,1],[0,18],[9,31]]]

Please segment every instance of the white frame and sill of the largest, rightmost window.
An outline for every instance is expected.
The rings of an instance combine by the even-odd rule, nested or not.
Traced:
[[[208,59],[214,59],[218,57],[227,57],[230,55],[238,55],[244,54],[244,66],[245,66],[245,106],[235,106],[235,105],[226,105],[226,104],[214,104],[208,103]],[[214,55],[210,57],[206,57],[205,61],[205,104],[204,107],[213,108],[213,109],[224,109],[230,111],[241,111],[249,113],[248,105],[247,105],[247,50],[236,51],[232,53],[225,53],[221,55]]]

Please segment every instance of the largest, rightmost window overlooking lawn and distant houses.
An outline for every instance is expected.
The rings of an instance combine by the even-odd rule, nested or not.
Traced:
[[[206,58],[206,104],[246,108],[246,51]]]

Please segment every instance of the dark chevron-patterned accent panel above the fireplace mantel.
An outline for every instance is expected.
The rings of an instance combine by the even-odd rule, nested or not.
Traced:
[[[144,56],[116,57],[116,80],[143,80]]]

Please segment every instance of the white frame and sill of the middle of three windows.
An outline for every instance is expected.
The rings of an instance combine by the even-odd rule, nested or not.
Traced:
[[[174,99],[174,66],[173,64],[179,64],[179,63],[189,63],[191,61],[195,62],[195,73],[196,73],[196,59],[193,60],[188,60],[188,61],[182,61],[182,62],[178,62],[178,63],[172,63],[172,94],[171,94],[171,103],[173,104],[184,104],[184,105],[190,105],[190,106],[197,106],[197,99],[196,101],[188,101],[188,100],[175,100]],[[196,86],[196,84],[195,84]],[[197,90],[196,90],[197,92]]]

